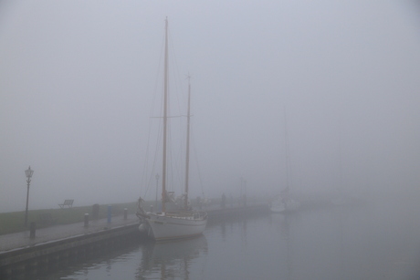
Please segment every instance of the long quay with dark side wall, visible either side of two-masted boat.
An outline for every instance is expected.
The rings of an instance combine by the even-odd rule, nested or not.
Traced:
[[[269,213],[268,204],[204,209],[209,222],[223,217]],[[85,223],[54,225],[0,235],[0,279],[25,279],[111,252],[121,246],[141,243],[135,214]]]

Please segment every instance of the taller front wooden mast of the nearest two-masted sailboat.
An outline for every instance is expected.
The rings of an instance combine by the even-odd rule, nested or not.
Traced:
[[[164,26],[162,212],[166,212],[166,127],[168,120],[168,17]]]

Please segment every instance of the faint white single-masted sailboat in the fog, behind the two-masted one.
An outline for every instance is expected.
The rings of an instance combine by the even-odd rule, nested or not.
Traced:
[[[289,195],[289,139],[288,139],[288,123],[286,119],[285,109],[285,146],[286,146],[286,189],[282,190],[278,197],[270,203],[272,213],[290,213],[299,210],[300,202],[292,199]]]

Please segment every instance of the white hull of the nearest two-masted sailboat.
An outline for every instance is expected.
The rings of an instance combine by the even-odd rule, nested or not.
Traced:
[[[173,240],[199,235],[205,231],[206,213],[147,213],[145,230],[156,240]]]

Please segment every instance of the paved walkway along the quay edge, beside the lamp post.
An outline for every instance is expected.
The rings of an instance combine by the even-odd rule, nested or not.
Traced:
[[[82,223],[70,223],[63,225],[54,225],[47,228],[37,229],[35,238],[29,238],[29,231],[21,233],[9,233],[0,235],[0,254],[5,251],[15,250],[36,244],[43,244],[60,239],[88,234],[98,233],[103,230],[139,223],[135,214],[129,214],[127,220],[123,216],[112,217],[110,223],[107,219],[98,221],[89,221],[89,227],[84,227]]]

